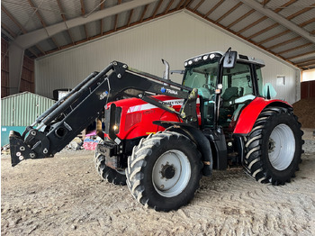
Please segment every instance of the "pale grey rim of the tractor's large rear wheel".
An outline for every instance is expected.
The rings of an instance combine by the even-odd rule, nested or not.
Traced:
[[[291,128],[282,123],[270,134],[268,155],[271,165],[277,170],[288,168],[295,152],[295,138]]]

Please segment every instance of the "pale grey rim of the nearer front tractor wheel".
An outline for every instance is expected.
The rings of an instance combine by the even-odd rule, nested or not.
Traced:
[[[191,172],[190,162],[182,151],[168,150],[153,167],[152,183],[159,195],[173,197],[183,192]]]

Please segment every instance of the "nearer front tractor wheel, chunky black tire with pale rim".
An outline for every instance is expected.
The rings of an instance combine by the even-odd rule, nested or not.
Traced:
[[[131,195],[140,204],[156,211],[177,210],[199,188],[201,153],[182,134],[157,132],[133,149],[126,176]]]

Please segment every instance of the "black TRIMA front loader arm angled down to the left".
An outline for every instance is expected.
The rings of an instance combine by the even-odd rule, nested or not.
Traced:
[[[184,98],[180,112],[151,97],[157,94]],[[176,113],[185,123],[197,122],[196,89],[113,61],[101,72],[86,77],[66,97],[42,113],[22,135],[10,133],[12,166],[23,159],[53,156],[99,117],[105,104],[125,96],[138,97],[167,112]]]

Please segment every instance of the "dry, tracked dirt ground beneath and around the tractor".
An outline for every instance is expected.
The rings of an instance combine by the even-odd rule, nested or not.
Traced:
[[[285,186],[259,184],[241,168],[214,171],[190,204],[170,213],[102,181],[93,156],[63,150],[12,168],[3,155],[2,235],[315,235],[315,152],[303,154]]]

